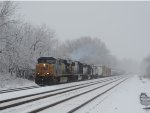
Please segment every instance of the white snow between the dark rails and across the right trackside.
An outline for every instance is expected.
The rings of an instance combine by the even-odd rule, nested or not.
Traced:
[[[112,89],[111,91],[107,92],[104,95],[101,95],[97,99],[93,100],[92,102],[88,103],[87,105],[83,106],[81,109],[75,111],[75,113],[150,113],[149,111],[144,110],[143,108],[147,107],[140,103],[140,94],[146,93],[150,97],[150,79],[147,78],[141,78],[138,75],[130,75],[131,77]],[[106,79],[106,78],[101,78]],[[98,79],[97,79],[98,80]],[[67,83],[67,84],[60,84],[60,85],[53,85],[48,87],[41,87],[37,89],[30,89],[27,91],[18,91],[18,92],[12,92],[7,94],[1,94],[1,97],[3,99],[5,98],[11,98],[11,97],[18,97],[19,95],[26,95],[26,94],[34,94],[38,92],[44,92],[44,91],[50,91],[54,89],[60,89],[72,85],[77,85],[81,83],[86,83],[90,81],[97,81],[95,80],[89,80],[89,81],[82,81],[82,82],[74,82],[74,83]],[[90,88],[93,88],[94,86],[84,88],[84,90],[79,89],[78,91],[72,91],[68,92],[66,94],[56,95],[53,97],[49,97],[46,99],[42,99],[39,101],[35,101],[32,103],[24,104],[9,110],[6,110],[6,112],[12,112],[12,111],[22,111],[22,112],[28,112],[28,110],[33,110],[37,107],[42,107],[48,104],[53,103],[54,101],[59,101],[62,99],[65,99],[72,94],[78,94],[81,92],[84,92],[86,90],[89,90]],[[100,89],[103,90],[103,89]],[[50,109],[46,109],[43,112],[65,112],[68,109],[78,106],[83,100],[89,99],[90,97],[97,95],[101,91],[95,91],[95,93],[87,94],[84,96],[81,96],[77,99],[72,99],[66,103],[62,103],[61,105],[54,106]],[[11,95],[10,95],[11,94]],[[1,100],[3,100],[1,99]],[[83,99],[83,100],[82,100]],[[64,109],[65,108],[65,109]],[[11,111],[12,110],[12,111]],[[26,111],[27,110],[27,111]]]

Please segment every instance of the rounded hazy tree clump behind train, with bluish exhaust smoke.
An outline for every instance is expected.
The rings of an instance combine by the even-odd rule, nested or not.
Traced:
[[[109,53],[99,38],[82,37],[68,40],[59,47],[58,57],[71,58],[89,64],[116,66],[117,59]],[[111,60],[114,60],[113,62]]]

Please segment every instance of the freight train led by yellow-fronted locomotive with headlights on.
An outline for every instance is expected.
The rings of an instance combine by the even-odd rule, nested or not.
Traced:
[[[54,57],[37,59],[35,83],[51,85],[111,76],[111,68]]]

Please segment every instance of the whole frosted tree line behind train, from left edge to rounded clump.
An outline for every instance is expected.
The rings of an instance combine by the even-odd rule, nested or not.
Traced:
[[[59,42],[55,30],[24,22],[17,17],[16,10],[16,2],[0,2],[0,72],[22,76],[19,72],[35,70],[37,58],[42,56],[120,69],[119,61],[100,38],[81,37]]]

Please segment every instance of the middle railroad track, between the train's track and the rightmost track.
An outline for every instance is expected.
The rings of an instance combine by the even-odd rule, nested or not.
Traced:
[[[10,99],[7,99],[7,100],[2,100],[2,101],[0,101],[0,103],[1,103],[0,104],[0,110],[7,109],[7,108],[10,108],[10,107],[14,107],[14,106],[18,106],[18,105],[25,104],[25,103],[29,103],[29,102],[32,102],[32,101],[40,100],[40,99],[43,99],[43,98],[47,98],[49,96],[54,96],[54,95],[62,94],[62,93],[65,93],[65,92],[73,91],[73,90],[76,90],[76,89],[88,87],[90,85],[106,82],[106,81],[112,80],[112,79],[114,79],[114,78],[109,78],[109,79],[104,79],[104,80],[101,80],[101,81],[95,81],[95,82],[90,82],[90,83],[85,83],[85,84],[79,84],[79,85],[75,85],[75,86],[65,87],[65,88],[62,88],[62,89],[56,89],[56,90],[52,90],[52,91],[46,91],[46,92],[42,92],[42,93],[31,94],[31,95],[21,96],[21,97],[17,97],[17,98],[10,98]]]

